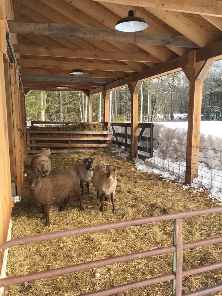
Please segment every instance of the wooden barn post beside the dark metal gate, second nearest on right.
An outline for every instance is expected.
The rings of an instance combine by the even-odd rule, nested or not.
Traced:
[[[133,75],[130,75],[128,88],[131,93],[131,124],[130,124],[130,155],[135,158],[137,154],[138,137],[138,93],[142,81],[133,81]]]

